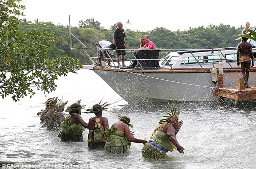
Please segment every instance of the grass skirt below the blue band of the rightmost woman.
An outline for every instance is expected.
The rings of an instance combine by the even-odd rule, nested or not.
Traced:
[[[142,156],[152,160],[164,160],[168,158],[164,151],[149,143],[144,145],[142,149]]]

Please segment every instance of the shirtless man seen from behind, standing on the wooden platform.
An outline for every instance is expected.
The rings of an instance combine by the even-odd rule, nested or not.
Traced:
[[[242,37],[242,42],[237,46],[237,66],[242,68],[243,79],[245,80],[245,88],[249,88],[248,79],[250,71],[250,59],[252,59],[252,67],[254,66],[253,55],[252,55],[252,44],[247,42],[248,38]],[[239,62],[240,54],[240,62]]]

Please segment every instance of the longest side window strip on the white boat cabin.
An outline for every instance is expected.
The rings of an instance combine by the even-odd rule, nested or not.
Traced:
[[[209,63],[215,63],[219,62],[219,55],[205,55],[205,56],[189,56],[184,59],[184,61],[181,63],[181,65],[186,64],[209,64]]]

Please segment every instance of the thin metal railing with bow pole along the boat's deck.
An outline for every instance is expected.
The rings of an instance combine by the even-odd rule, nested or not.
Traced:
[[[94,50],[95,53],[96,53],[96,50],[98,48],[88,48],[81,40],[79,40],[75,35],[73,35],[71,33],[71,26],[69,25],[69,36],[70,36],[70,46],[71,46],[71,49],[82,49],[83,52],[85,53],[86,57],[89,59],[89,61],[92,62],[92,64],[94,65],[97,65],[96,64],[96,61],[99,59],[97,56],[96,57],[92,57],[91,53],[93,52],[87,52],[87,50]],[[72,38],[76,39],[83,47],[82,48],[73,48],[72,46]],[[108,48],[105,48],[107,50],[111,50],[111,49],[108,49]],[[160,50],[160,53],[158,55],[158,59],[150,59],[151,61],[154,61],[154,60],[158,60],[159,64],[160,62],[165,62],[165,64],[160,64],[160,66],[167,66],[165,68],[168,68],[168,69],[173,69],[173,64],[176,62],[176,61],[182,61],[182,63],[180,63],[180,66],[185,66],[187,64],[190,64],[190,65],[193,65],[193,64],[198,64],[200,66],[200,68],[203,68],[205,67],[204,65],[202,64],[209,64],[209,63],[217,63],[219,61],[226,61],[226,63],[230,66],[230,68],[232,68],[232,62],[235,62],[236,60],[236,56],[234,54],[234,56],[232,56],[231,58],[227,58],[225,56],[225,54],[223,54],[223,51],[225,50],[234,50],[236,49],[236,47],[231,47],[231,48],[214,48],[214,49],[182,49],[182,50],[165,50],[165,49],[159,49]],[[115,49],[115,51],[117,50],[123,50],[123,49]],[[130,64],[132,64],[132,62],[135,60],[137,61],[137,67],[138,68],[148,68],[147,66],[143,66],[143,64],[141,64],[141,62],[143,61],[148,61],[149,59],[143,59],[143,58],[136,58],[133,51],[134,50],[137,50],[137,49],[125,49],[126,51],[126,55],[125,55],[125,61],[129,61]],[[205,58],[199,58],[198,56],[194,55],[194,53],[196,52],[204,52],[204,51],[218,51],[218,55],[219,55],[219,58],[215,60],[215,58],[213,57],[212,59],[210,59],[211,61],[209,62],[209,59],[205,59]],[[187,53],[191,53],[191,57],[193,57],[193,60],[191,62],[191,60],[189,59],[181,59],[181,58],[178,58],[178,59],[171,59],[171,57],[168,55],[169,52],[177,52],[177,53],[184,53],[184,52],[187,52]],[[255,49],[255,46],[253,47],[253,54],[254,54],[254,57],[256,57],[256,49]],[[93,55],[95,55],[93,53]],[[213,54],[212,54],[213,55]],[[178,57],[179,55],[177,55]],[[159,58],[160,57],[160,58]],[[116,65],[117,64],[117,59],[114,58],[114,57],[110,57],[108,55],[108,58],[102,58],[102,59],[110,59],[111,63],[113,64],[113,67],[117,68],[118,66]],[[190,62],[189,62],[190,61]],[[233,65],[234,66],[234,65]],[[149,66],[150,67],[150,66]]]

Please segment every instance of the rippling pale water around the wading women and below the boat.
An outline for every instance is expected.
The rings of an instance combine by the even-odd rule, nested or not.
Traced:
[[[51,94],[38,91],[35,96],[19,102],[11,97],[0,100],[0,167],[4,168],[90,168],[90,169],[252,169],[256,166],[256,105],[247,102],[236,107],[233,101],[219,103],[132,103],[121,100],[100,77],[91,70],[78,70],[56,81]],[[134,125],[135,137],[148,140],[173,104],[181,108],[184,121],[177,140],[185,149],[167,152],[169,160],[145,160],[143,144],[132,143],[125,155],[107,155],[104,150],[89,150],[88,130],[82,143],[61,143],[58,132],[41,128],[37,112],[45,107],[48,97],[58,96],[69,101],[81,99],[91,108],[103,102],[114,103],[103,116],[109,125],[118,121],[117,114],[127,115]],[[183,105],[183,106],[182,106]],[[88,122],[94,114],[82,114]]]

